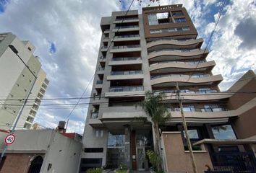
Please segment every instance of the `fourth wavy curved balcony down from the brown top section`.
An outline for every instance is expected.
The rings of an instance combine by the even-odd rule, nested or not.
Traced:
[[[151,77],[152,86],[175,86],[176,82],[179,82],[179,86],[189,85],[213,85],[219,84],[223,80],[222,76],[189,76],[189,75],[158,75]]]

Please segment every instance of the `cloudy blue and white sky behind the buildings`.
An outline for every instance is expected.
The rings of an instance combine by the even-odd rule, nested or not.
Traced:
[[[101,41],[101,17],[127,10],[132,0],[0,0],[0,32],[12,32],[30,40],[50,81],[45,98],[90,97],[92,78]],[[217,0],[135,0],[131,9],[167,4],[183,4],[207,44],[223,1]],[[207,61],[215,60],[213,74],[222,74],[219,85],[226,91],[247,70],[256,72],[256,1],[226,1],[208,49]],[[202,45],[202,48],[206,44]],[[81,102],[88,102],[82,99]],[[56,100],[53,104],[75,103]],[[49,102],[47,102],[49,103]],[[42,103],[43,104],[43,103]],[[56,128],[67,120],[72,107],[40,107],[35,121]],[[83,133],[87,105],[80,105],[69,117],[69,132]]]

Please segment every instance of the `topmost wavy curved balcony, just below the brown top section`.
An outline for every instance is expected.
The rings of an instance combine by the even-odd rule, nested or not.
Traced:
[[[161,40],[155,40],[148,43],[147,48],[150,51],[164,48],[200,48],[202,42],[202,38],[189,40],[171,40],[163,38]]]

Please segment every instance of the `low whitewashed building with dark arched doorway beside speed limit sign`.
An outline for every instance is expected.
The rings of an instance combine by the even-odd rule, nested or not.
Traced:
[[[71,173],[77,172],[82,150],[81,138],[61,134],[59,130],[15,130],[16,140],[8,146],[1,163],[1,173]],[[0,131],[0,139],[7,133]],[[78,135],[79,136],[79,135]],[[0,144],[0,152],[4,145]]]

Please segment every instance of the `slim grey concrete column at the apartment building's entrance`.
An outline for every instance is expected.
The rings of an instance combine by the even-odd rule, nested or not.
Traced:
[[[124,125],[124,135],[125,135],[125,143],[124,143],[124,154],[125,154],[125,164],[128,169],[131,169],[131,157],[130,157],[130,127],[129,125]]]

